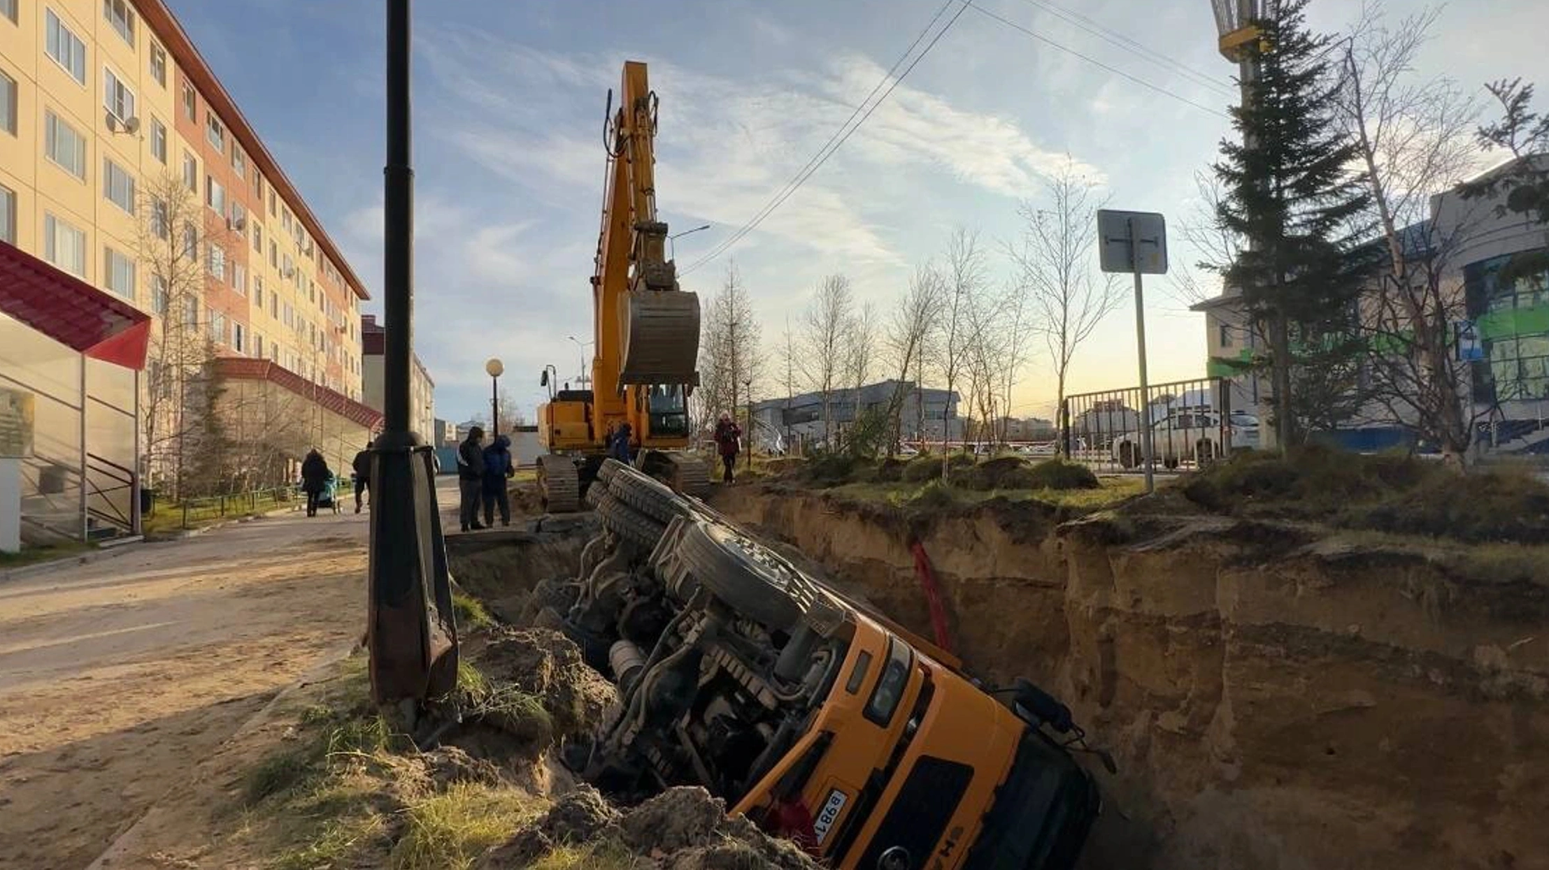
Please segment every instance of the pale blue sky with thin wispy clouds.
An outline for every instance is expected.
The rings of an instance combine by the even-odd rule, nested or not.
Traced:
[[[384,12],[367,0],[169,0],[204,59],[342,248],[381,313]],[[994,282],[1018,206],[1066,159],[1109,207],[1162,212],[1174,269],[1200,259],[1176,226],[1194,173],[1231,135],[1235,67],[1207,0],[974,0],[866,124],[768,220],[688,272],[708,303],[736,263],[773,348],[818,282],[847,276],[884,314],[954,228],[979,232]],[[1386,0],[1399,20],[1425,6]],[[603,118],[623,62],[660,98],[657,201],[680,269],[748,221],[818,152],[942,8],[942,0],[420,0],[414,45],[414,347],[437,416],[488,410],[485,361],[516,404],[538,375],[573,379],[589,342],[603,201]],[[982,11],[981,11],[982,9]],[[956,6],[948,9],[953,15]],[[1312,0],[1338,31],[1360,0]],[[987,14],[990,12],[990,14]],[[1036,39],[993,15],[1038,34]],[[1100,33],[1117,34],[1104,40]],[[1417,76],[1478,88],[1549,82],[1538,0],[1442,6]],[[1157,60],[1162,59],[1162,60]],[[1549,87],[1549,85],[1544,85]],[[1549,98],[1546,93],[1540,98]],[[1095,268],[1095,254],[1094,254]],[[1128,277],[1123,280],[1129,282]],[[1126,294],[1078,351],[1070,390],[1137,382]],[[1205,320],[1171,277],[1149,277],[1151,382],[1204,376]],[[774,355],[771,355],[773,358]],[[1039,355],[1016,416],[1052,413]],[[774,387],[774,375],[770,385]]]

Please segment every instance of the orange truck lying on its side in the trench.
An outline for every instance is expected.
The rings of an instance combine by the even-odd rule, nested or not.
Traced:
[[[945,650],[699,500],[609,460],[547,619],[618,686],[565,763],[620,800],[703,785],[840,868],[1064,868],[1100,810],[1070,712]]]

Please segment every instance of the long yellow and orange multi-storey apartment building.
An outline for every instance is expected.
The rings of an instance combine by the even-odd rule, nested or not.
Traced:
[[[367,291],[163,0],[0,0],[0,241],[361,404]]]

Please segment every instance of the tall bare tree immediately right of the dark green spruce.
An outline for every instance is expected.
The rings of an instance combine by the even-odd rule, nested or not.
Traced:
[[[1382,232],[1380,280],[1362,303],[1374,351],[1371,395],[1461,468],[1475,420],[1467,410],[1468,364],[1453,353],[1451,331],[1467,313],[1465,294],[1445,279],[1461,238],[1427,218],[1430,197],[1478,166],[1470,138],[1478,104],[1450,79],[1416,79],[1416,56],[1437,15],[1436,8],[1422,9],[1388,26],[1382,5],[1366,5],[1346,48],[1340,108]]]

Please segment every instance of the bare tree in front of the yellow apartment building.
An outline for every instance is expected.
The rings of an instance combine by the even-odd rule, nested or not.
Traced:
[[[208,276],[225,269],[229,231],[184,180],[164,173],[138,190],[135,259],[150,286],[153,334],[146,353],[141,478],[186,491],[187,454],[212,427]]]

